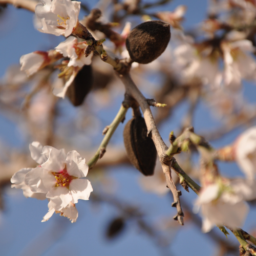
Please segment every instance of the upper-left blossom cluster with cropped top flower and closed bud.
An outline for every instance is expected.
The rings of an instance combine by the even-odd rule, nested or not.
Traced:
[[[86,41],[70,36],[71,34],[75,35],[79,28],[79,11],[80,2],[77,1],[42,0],[38,3],[35,8],[37,22],[41,27],[38,30],[43,33],[69,37],[55,47],[56,50],[36,51],[20,57],[21,70],[24,70],[28,76],[62,57],[68,58],[69,60],[63,60],[58,66],[61,69],[59,78],[64,78],[65,86],[53,90],[54,95],[62,98],[65,97],[68,87],[81,68],[91,64],[93,56],[92,54],[87,58],[84,56],[84,51],[88,47]]]

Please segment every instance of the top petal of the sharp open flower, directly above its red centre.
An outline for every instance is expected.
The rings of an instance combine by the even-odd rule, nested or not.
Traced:
[[[48,160],[41,165],[42,168],[51,170],[51,172],[60,172],[65,168],[66,156],[62,151],[52,146],[45,146],[42,154],[48,157]]]

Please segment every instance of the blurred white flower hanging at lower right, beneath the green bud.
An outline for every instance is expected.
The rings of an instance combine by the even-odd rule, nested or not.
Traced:
[[[234,179],[202,188],[194,208],[201,208],[202,231],[209,232],[216,225],[241,227],[249,208],[244,200],[255,198],[254,187],[247,180]]]

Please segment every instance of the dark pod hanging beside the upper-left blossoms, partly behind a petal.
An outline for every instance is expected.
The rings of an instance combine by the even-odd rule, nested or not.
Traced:
[[[79,106],[82,104],[86,95],[91,91],[92,86],[92,67],[91,65],[84,65],[78,72],[74,81],[70,84],[66,95],[74,106]]]

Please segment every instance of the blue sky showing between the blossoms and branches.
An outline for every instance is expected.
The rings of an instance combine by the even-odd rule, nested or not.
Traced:
[[[92,3],[92,2],[90,2]],[[173,10],[180,4],[187,5],[184,27],[190,28],[198,24],[205,17],[207,1],[172,1],[164,10]],[[89,6],[93,7],[92,4]],[[63,39],[53,35],[43,34],[36,31],[32,23],[33,14],[27,10],[15,9],[8,6],[5,16],[0,20],[0,77],[3,77],[7,68],[13,63],[18,63],[20,56],[35,50],[47,50],[54,48]],[[245,95],[253,101],[255,87],[245,85]],[[122,99],[120,99],[120,102]],[[120,105],[116,102],[116,105]],[[163,125],[160,133],[167,135],[170,130],[175,130],[186,113],[188,106],[183,103],[176,109],[172,120]],[[114,112],[104,118],[109,123]],[[108,119],[109,118],[109,119]],[[127,118],[129,119],[129,118]],[[21,147],[24,139],[21,138],[17,123],[0,114],[0,140],[14,147]],[[210,129],[215,120],[209,115],[209,110],[200,102],[195,117],[195,127],[200,130]],[[118,127],[117,133],[122,134],[123,124]],[[221,146],[233,141],[241,132],[238,129],[226,136],[225,140],[214,142],[214,146]],[[120,142],[119,138],[119,142]],[[235,164],[221,164],[226,172],[241,175]],[[170,195],[159,197],[147,194],[138,184],[140,174],[134,168],[121,166],[108,170],[110,176],[118,183],[118,198],[134,205],[141,205],[147,213],[148,220],[156,220],[158,216],[170,217],[175,215],[176,209],[171,207]],[[97,190],[97,186],[95,186]],[[196,195],[191,191],[189,194],[182,190],[182,200],[191,204]],[[5,256],[51,256],[51,255],[161,255],[159,249],[152,240],[138,230],[135,223],[130,222],[126,231],[118,239],[108,241],[104,237],[104,230],[113,216],[119,212],[111,205],[94,205],[92,202],[82,201],[77,205],[79,211],[78,221],[71,224],[66,218],[54,215],[48,222],[41,223],[42,216],[48,210],[47,201],[26,199],[21,191],[6,189],[4,195],[6,210],[0,219],[0,254]],[[255,216],[252,209],[245,224],[245,230],[251,228],[251,221]],[[186,219],[185,219],[186,221]],[[252,222],[255,226],[255,222]],[[215,228],[216,229],[216,228]],[[217,229],[215,230],[219,232]],[[220,232],[219,232],[220,233]],[[210,256],[215,251],[215,243],[201,233],[197,226],[188,224],[174,233],[172,245],[168,248],[168,255],[205,255]],[[222,234],[220,234],[222,235]],[[231,236],[230,236],[231,237]],[[223,239],[224,236],[223,236]],[[229,240],[233,240],[229,238]],[[45,250],[45,248],[48,248]],[[182,253],[181,253],[182,251]]]

